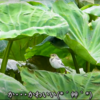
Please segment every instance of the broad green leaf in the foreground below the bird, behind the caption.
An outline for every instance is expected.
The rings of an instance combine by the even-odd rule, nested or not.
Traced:
[[[63,94],[59,96],[54,96],[51,99],[60,97],[60,99],[72,99],[71,93],[76,93],[77,99],[92,99],[100,98],[100,73],[88,73],[88,74],[59,74],[48,71],[29,71],[27,69],[21,70],[21,77],[24,86],[33,92],[39,92],[46,94],[51,92],[54,96],[54,92],[62,92]],[[68,92],[67,92],[68,91]],[[82,93],[83,92],[83,93]],[[73,98],[75,98],[75,94]],[[48,99],[50,96],[47,96],[44,99]],[[38,98],[40,99],[40,98]]]

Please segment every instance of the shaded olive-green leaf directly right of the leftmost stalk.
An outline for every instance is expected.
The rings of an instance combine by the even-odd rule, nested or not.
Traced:
[[[39,44],[43,41],[43,39],[45,39],[45,37],[45,34],[35,34],[33,37],[27,37],[14,41],[10,51],[9,59],[25,61],[24,54],[26,49]]]

